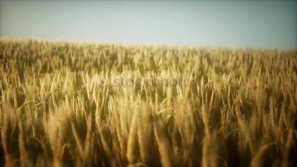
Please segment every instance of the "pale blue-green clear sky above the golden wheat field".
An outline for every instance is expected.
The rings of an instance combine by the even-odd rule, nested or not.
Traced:
[[[0,1],[0,37],[297,48],[297,1]]]

